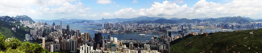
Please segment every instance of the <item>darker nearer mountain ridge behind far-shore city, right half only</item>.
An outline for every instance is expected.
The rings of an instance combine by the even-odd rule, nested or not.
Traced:
[[[250,22],[250,20],[246,20],[241,16],[238,17],[221,17],[221,18],[209,18],[209,19],[204,19],[204,20],[199,20],[199,19],[187,19],[187,18],[182,18],[179,20],[166,20],[166,19],[158,19],[158,20],[154,20],[154,21],[127,21],[125,23],[195,23],[195,22],[210,22],[210,23],[219,23],[219,22],[235,22],[235,23],[241,23],[241,21],[243,22]]]

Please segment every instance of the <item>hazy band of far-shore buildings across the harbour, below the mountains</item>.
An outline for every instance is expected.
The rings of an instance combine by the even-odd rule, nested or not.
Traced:
[[[103,23],[103,22],[102,22]],[[181,33],[192,29],[192,27],[205,26],[208,28],[219,28],[219,29],[258,29],[262,28],[261,22],[250,22],[250,23],[230,23],[230,22],[195,22],[195,23],[149,23],[149,24],[139,24],[139,23],[103,23],[102,33]]]

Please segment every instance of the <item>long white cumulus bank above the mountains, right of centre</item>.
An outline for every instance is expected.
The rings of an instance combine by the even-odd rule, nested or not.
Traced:
[[[207,2],[200,0],[188,7],[187,4],[182,6],[177,5],[169,1],[163,1],[162,3],[154,2],[150,8],[138,9],[124,8],[117,12],[112,13],[113,17],[139,17],[139,16],[151,16],[151,17],[180,17],[180,18],[199,18],[199,17],[228,17],[228,16],[246,16],[259,18],[261,17],[260,10],[262,2],[259,0],[234,0],[229,3],[221,4],[214,2]]]

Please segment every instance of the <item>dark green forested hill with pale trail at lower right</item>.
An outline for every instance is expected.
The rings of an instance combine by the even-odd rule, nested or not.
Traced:
[[[171,41],[170,53],[261,53],[261,34],[256,29],[189,36]]]

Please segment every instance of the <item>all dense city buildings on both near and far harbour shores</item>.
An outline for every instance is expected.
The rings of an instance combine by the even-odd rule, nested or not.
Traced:
[[[21,21],[24,26],[34,28],[30,30],[30,34],[26,34],[26,40],[42,39],[42,47],[50,52],[69,50],[71,52],[79,51],[80,53],[170,53],[170,42],[183,38],[185,35],[205,34],[201,29],[200,33],[191,32],[194,26],[208,26],[214,28],[261,28],[262,24],[257,22],[251,23],[104,23],[102,22],[101,33],[163,33],[160,36],[154,36],[148,43],[128,43],[125,45],[117,38],[101,33],[95,33],[94,38],[89,33],[80,33],[80,30],[62,28],[62,20],[60,25],[55,23],[47,24],[42,22],[28,23],[29,21]],[[20,24],[21,25],[21,24]],[[19,27],[19,26],[18,26]],[[184,33],[188,31],[188,33]],[[181,33],[180,35],[171,35],[171,33]]]

